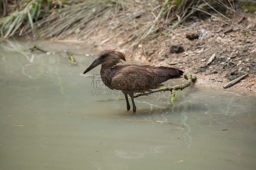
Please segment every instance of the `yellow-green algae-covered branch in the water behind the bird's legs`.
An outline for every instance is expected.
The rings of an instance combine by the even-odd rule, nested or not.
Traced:
[[[152,93],[155,93],[155,92],[161,92],[161,91],[171,91],[172,95],[171,95],[171,102],[170,102],[170,105],[172,105],[175,101],[175,92],[177,90],[183,90],[185,89],[186,87],[188,87],[189,85],[192,84],[192,82],[195,82],[196,81],[196,76],[192,77],[191,75],[189,74],[185,74],[183,75],[183,77],[188,80],[186,83],[182,84],[182,85],[174,85],[174,86],[168,86],[168,87],[160,87],[158,89],[154,89],[150,92],[144,92],[144,93],[135,93],[133,95],[133,98],[137,98],[137,97],[140,97],[140,96],[147,96],[149,94],[152,94]],[[117,99],[107,99],[107,100],[121,100],[121,99],[124,99],[124,98],[117,98]],[[98,101],[107,101],[107,100],[98,100]]]

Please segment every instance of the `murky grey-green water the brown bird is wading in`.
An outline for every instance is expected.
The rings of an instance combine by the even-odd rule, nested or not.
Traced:
[[[68,57],[29,52],[37,43]],[[191,85],[135,99],[102,86],[86,43],[0,43],[0,169],[255,169],[256,97]],[[127,60],[127,63],[132,61]],[[181,84],[179,79],[167,82]],[[130,101],[131,103],[131,101]],[[165,121],[118,121],[118,119]]]

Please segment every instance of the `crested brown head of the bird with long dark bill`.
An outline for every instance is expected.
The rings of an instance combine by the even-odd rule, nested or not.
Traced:
[[[122,60],[126,61],[123,53],[114,50],[103,50],[92,62],[92,64],[84,71],[84,74],[99,64],[104,65],[105,67],[113,67],[118,63],[123,63]]]

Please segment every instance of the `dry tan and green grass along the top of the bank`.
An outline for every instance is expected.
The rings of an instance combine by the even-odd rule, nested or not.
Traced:
[[[7,3],[6,3],[7,2]],[[119,45],[129,44],[134,51],[139,44],[168,36],[176,26],[186,26],[194,16],[213,16],[227,24],[232,16],[254,12],[256,1],[229,0],[157,0],[157,1],[46,1],[21,0],[9,5],[3,1],[5,17],[0,19],[1,36],[26,36],[31,39],[64,39],[74,36],[102,45],[122,34]],[[10,12],[8,15],[8,11]],[[219,16],[219,17],[217,17]],[[231,16],[231,17],[230,17]],[[245,29],[245,28],[243,28]],[[99,32],[100,31],[100,32]],[[97,34],[100,34],[97,35]],[[104,37],[104,39],[102,38]],[[132,50],[131,50],[132,49]]]

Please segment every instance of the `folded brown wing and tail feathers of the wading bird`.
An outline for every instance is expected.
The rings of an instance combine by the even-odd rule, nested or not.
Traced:
[[[164,66],[123,64],[116,65],[112,69],[116,72],[113,81],[119,84],[119,87],[125,86],[126,89],[135,91],[159,88],[163,82],[172,78],[181,78],[180,76],[183,75],[182,70]],[[124,75],[123,81],[117,82]]]

